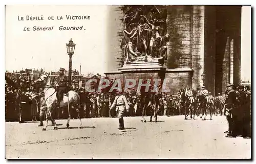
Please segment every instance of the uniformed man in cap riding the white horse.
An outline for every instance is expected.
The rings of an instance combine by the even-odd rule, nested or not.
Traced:
[[[60,101],[63,99],[63,94],[68,93],[68,77],[64,73],[64,68],[59,68],[59,75],[57,76],[57,83],[55,84],[57,106],[59,106]]]

